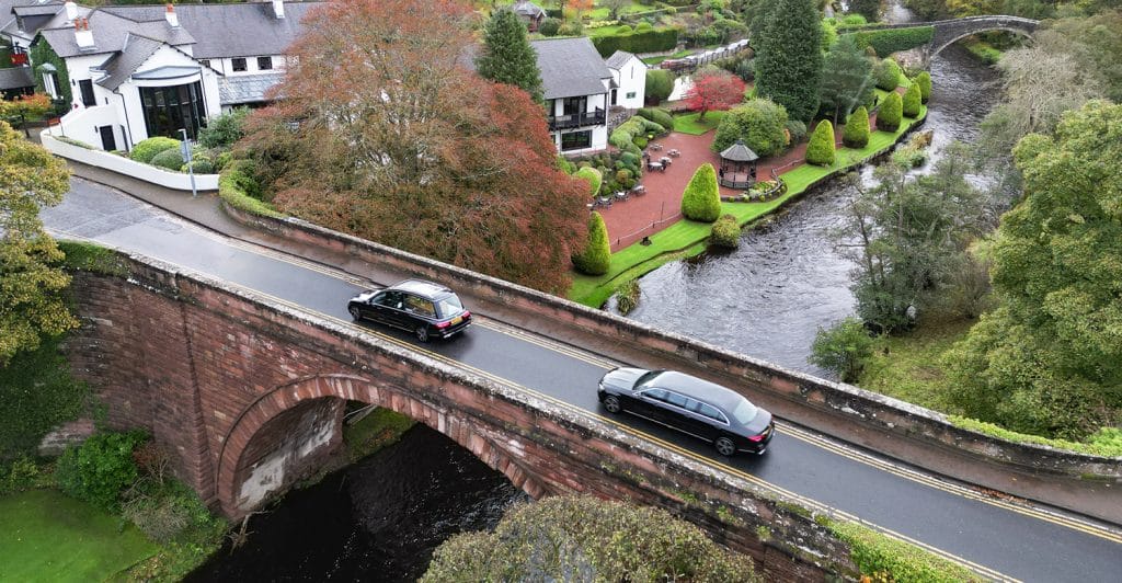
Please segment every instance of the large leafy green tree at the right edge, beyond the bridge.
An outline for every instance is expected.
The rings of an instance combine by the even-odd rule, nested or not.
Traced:
[[[1080,438],[1122,413],[1122,105],[1092,101],[1014,150],[1024,197],[993,247],[1000,306],[948,354],[967,415]]]

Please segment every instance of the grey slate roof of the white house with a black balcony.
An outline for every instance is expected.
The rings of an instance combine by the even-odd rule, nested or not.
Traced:
[[[607,93],[605,80],[611,72],[588,37],[531,40],[537,53],[545,99],[576,98]]]

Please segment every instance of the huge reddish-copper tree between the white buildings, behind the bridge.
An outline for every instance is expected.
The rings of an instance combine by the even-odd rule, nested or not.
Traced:
[[[470,24],[453,0],[313,8],[239,150],[286,212],[563,292],[587,183],[558,169],[540,105],[461,66]]]

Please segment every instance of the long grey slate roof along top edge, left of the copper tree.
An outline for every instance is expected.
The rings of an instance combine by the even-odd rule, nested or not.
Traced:
[[[287,53],[288,45],[303,33],[301,20],[320,4],[285,2],[284,18],[273,13],[272,2],[175,4],[175,13],[180,26],[194,34],[195,58],[250,57]],[[164,6],[113,6],[99,10],[137,22],[165,22]]]

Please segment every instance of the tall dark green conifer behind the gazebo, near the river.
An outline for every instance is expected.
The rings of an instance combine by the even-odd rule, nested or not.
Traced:
[[[756,55],[756,95],[809,122],[818,112],[822,75],[821,15],[812,0],[779,0]]]

